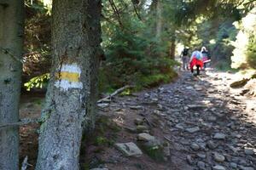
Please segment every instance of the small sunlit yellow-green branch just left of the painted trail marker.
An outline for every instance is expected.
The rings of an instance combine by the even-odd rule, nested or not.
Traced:
[[[24,86],[27,91],[30,91],[31,88],[45,88],[49,82],[49,73],[44,75],[33,77],[29,82],[26,82]]]

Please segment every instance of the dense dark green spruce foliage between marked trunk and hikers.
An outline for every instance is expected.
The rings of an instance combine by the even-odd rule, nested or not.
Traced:
[[[123,14],[122,23],[125,28],[102,23],[106,61],[100,71],[100,91],[111,92],[127,84],[141,89],[170,82],[177,63],[168,59],[169,41],[158,44],[149,21]]]

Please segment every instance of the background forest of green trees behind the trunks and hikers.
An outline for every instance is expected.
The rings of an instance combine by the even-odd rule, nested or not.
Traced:
[[[100,91],[170,82],[183,48],[206,46],[220,69],[255,68],[253,1],[102,2]],[[51,1],[26,1],[27,89],[45,88],[50,67]],[[32,78],[32,79],[31,79]]]

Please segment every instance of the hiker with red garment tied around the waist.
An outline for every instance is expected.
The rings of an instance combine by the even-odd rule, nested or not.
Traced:
[[[192,53],[189,59],[189,65],[192,73],[194,73],[194,66],[196,66],[196,75],[198,76],[203,67],[203,62],[201,52],[197,48],[195,48],[195,51]]]

